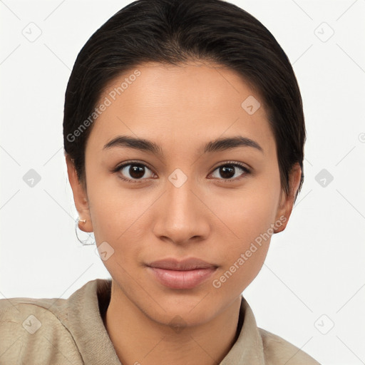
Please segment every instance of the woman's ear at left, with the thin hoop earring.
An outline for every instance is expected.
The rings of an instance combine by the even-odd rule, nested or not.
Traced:
[[[83,232],[93,232],[93,225],[90,217],[90,210],[88,206],[88,195],[86,193],[86,187],[84,187],[78,180],[75,165],[73,160],[71,160],[70,155],[65,154],[68,181],[70,182],[73,191],[73,200],[75,201],[76,209],[81,220],[86,222],[78,222],[78,227]]]

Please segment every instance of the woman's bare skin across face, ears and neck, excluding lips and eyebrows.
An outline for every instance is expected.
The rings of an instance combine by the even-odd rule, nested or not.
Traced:
[[[263,101],[234,71],[207,62],[136,68],[140,76],[94,122],[86,145],[87,190],[66,155],[76,208],[86,218],[81,230],[94,232],[97,245],[106,241],[114,250],[103,261],[113,279],[106,329],[123,364],[217,364],[237,339],[240,294],[262,268],[269,239],[221,287],[212,281],[270,225],[283,222],[280,217],[286,221],[274,232],[284,230],[300,167],[294,166],[285,195]],[[134,70],[110,83],[101,102]],[[248,96],[261,103],[252,115],[241,107]],[[151,140],[163,156],[126,147],[103,150],[117,135]],[[211,140],[236,135],[255,140],[262,151],[200,150]],[[121,180],[138,180],[130,166],[112,172],[130,160],[147,166],[140,183]],[[227,161],[251,173],[235,168],[225,178],[219,167]],[[168,180],[177,168],[187,177],[180,187]],[[145,267],[167,257],[197,257],[217,270],[193,289],[170,289]],[[170,325],[177,318],[179,330]]]

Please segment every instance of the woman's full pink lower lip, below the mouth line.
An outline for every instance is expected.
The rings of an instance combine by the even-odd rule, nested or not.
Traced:
[[[215,267],[186,271],[148,267],[158,281],[171,289],[192,289],[205,282],[215,272]]]

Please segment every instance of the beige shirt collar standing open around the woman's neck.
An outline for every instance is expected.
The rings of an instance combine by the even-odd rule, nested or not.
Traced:
[[[71,297],[54,302],[50,308],[73,334],[85,364],[121,365],[99,311],[99,305],[101,311],[108,306],[110,288],[111,279],[91,280]],[[220,365],[264,365],[262,339],[254,314],[244,297],[240,316],[243,318],[240,334]]]

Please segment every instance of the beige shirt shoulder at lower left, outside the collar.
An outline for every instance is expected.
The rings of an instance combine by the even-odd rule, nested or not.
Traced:
[[[65,299],[0,299],[0,362],[83,364],[73,336],[63,325],[67,311],[53,311]]]

